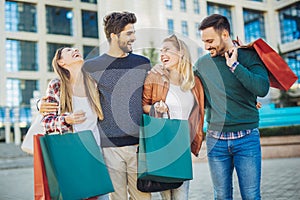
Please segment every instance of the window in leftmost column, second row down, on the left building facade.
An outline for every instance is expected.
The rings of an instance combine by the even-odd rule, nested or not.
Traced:
[[[37,43],[22,40],[6,40],[6,71],[37,71]]]

